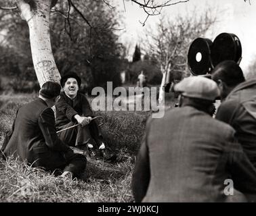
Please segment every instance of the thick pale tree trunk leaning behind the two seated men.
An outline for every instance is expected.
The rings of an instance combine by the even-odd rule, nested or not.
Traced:
[[[50,9],[56,3],[56,0],[16,0],[22,19],[28,23],[33,64],[40,86],[47,81],[60,82],[49,34]]]

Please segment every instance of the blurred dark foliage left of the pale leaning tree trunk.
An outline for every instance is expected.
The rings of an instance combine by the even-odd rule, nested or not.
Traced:
[[[1,78],[6,80],[3,82],[4,88],[17,91],[38,89],[38,84],[35,84],[37,76],[33,68],[26,22],[20,19],[17,10],[0,10],[0,29],[0,74]]]

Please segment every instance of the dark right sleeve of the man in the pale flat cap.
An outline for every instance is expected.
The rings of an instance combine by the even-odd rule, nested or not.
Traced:
[[[230,136],[229,140],[226,153],[234,188],[244,193],[256,194],[256,169],[234,135]]]

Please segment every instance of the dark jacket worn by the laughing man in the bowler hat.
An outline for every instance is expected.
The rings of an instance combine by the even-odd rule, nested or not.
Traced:
[[[93,116],[93,111],[85,95],[77,93],[77,97],[70,99],[65,92],[60,93],[56,103],[56,127],[64,126],[70,121],[76,121],[74,115]]]

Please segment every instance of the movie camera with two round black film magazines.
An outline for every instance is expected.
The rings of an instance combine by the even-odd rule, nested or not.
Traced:
[[[225,60],[233,60],[238,64],[242,59],[242,46],[236,34],[221,33],[212,42],[209,38],[196,38],[188,49],[188,68],[192,76],[207,76],[213,68]],[[167,74],[165,92],[169,92],[171,76]]]

